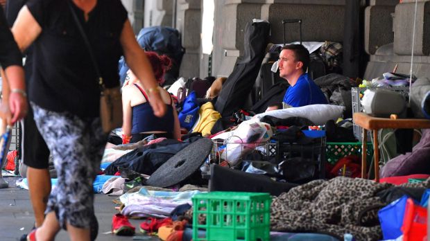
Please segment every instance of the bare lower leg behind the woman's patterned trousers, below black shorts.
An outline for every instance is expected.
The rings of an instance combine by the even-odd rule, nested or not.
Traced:
[[[28,189],[35,213],[35,226],[42,226],[46,202],[51,193],[51,179],[48,169],[27,168]],[[54,216],[55,217],[55,216]]]

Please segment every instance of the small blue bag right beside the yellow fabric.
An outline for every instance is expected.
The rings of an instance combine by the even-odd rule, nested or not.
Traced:
[[[191,130],[194,123],[198,119],[198,110],[200,106],[197,102],[196,93],[191,91],[189,96],[185,98],[182,111],[178,114],[180,127],[184,127],[187,130]]]

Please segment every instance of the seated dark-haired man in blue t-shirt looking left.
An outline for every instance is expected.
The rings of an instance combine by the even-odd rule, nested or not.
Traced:
[[[284,108],[328,103],[320,87],[306,73],[309,62],[309,51],[301,44],[282,47],[278,63],[279,76],[291,85],[282,100]]]

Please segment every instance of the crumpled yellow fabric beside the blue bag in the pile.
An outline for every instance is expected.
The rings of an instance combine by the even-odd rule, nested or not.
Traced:
[[[202,105],[198,110],[198,114],[200,114],[200,120],[196,124],[196,127],[194,127],[193,132],[201,132],[202,136],[209,136],[216,120],[221,118],[221,114],[214,110],[212,102],[207,102],[205,105]]]

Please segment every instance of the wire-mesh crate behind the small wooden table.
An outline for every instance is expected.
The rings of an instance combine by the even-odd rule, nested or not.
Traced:
[[[363,107],[361,106],[361,98],[360,93],[363,93],[366,89],[387,89],[391,91],[400,91],[406,98],[406,101],[409,99],[409,87],[353,87],[351,89],[352,93],[352,116],[354,116],[354,113],[356,112],[363,112]],[[358,125],[352,126],[352,130],[354,131],[354,136],[358,141],[362,141],[363,136],[363,129],[359,127]],[[371,141],[372,132],[368,131],[368,142]]]

